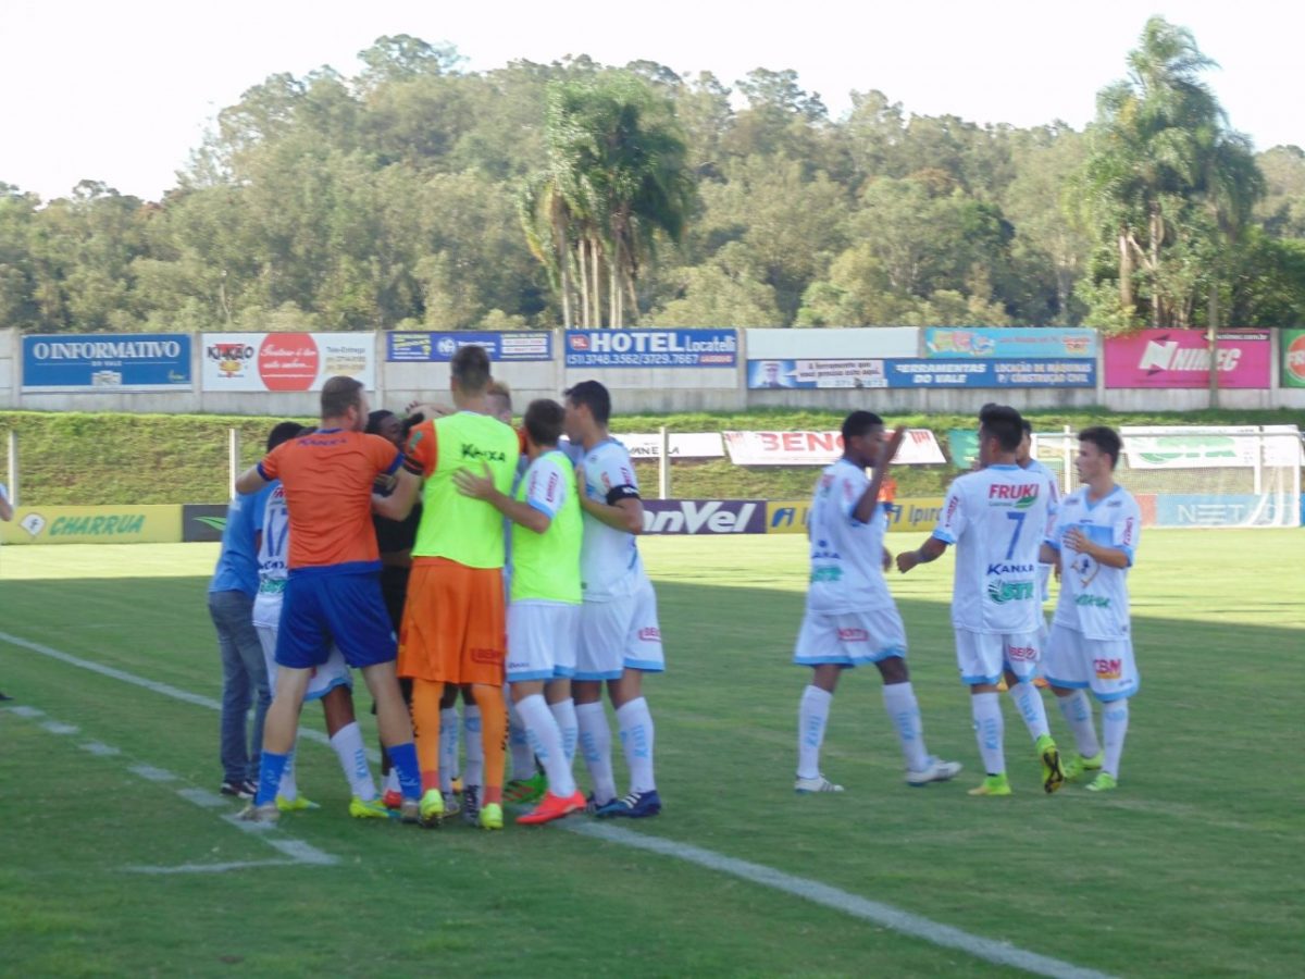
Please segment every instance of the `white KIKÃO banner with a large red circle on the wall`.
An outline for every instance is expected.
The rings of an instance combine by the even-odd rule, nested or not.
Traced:
[[[346,375],[376,389],[375,333],[205,333],[206,392],[320,390]]]

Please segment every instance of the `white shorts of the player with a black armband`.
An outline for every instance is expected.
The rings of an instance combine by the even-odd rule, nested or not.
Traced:
[[[576,679],[616,680],[626,668],[647,674],[666,670],[656,593],[650,581],[633,595],[581,606]]]

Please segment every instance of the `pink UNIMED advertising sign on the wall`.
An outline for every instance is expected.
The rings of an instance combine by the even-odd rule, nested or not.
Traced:
[[[1268,333],[1220,330],[1216,347],[1220,388],[1268,388]],[[1199,389],[1208,384],[1205,330],[1138,330],[1105,341],[1107,388]]]

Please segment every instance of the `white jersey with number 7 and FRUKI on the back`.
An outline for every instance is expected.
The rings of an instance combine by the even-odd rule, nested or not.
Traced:
[[[1019,466],[958,476],[933,536],[955,544],[951,624],[990,634],[1037,632],[1037,551],[1049,529],[1047,482]]]

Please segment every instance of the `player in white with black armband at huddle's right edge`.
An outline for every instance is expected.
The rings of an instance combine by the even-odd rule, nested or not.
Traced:
[[[656,595],[643,570],[636,534],[643,504],[630,454],[607,433],[612,398],[598,381],[566,392],[566,437],[585,454],[577,473],[585,539],[581,546],[581,637],[572,691],[579,743],[598,816],[643,817],[662,811],[652,775],[652,715],[643,674],[666,670]],[[630,791],[616,796],[612,731],[603,711],[603,683],[616,709]]]

